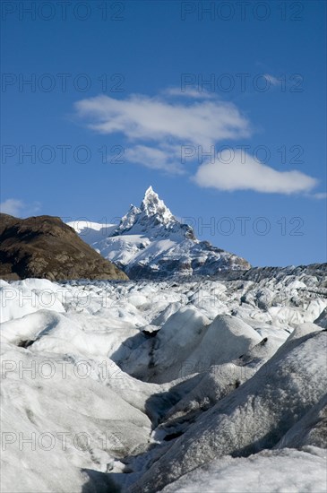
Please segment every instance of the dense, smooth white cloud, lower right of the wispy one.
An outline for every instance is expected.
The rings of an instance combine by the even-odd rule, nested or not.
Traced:
[[[218,190],[285,195],[309,192],[317,184],[314,177],[296,170],[273,169],[241,151],[235,151],[233,160],[227,163],[228,157],[222,155],[221,160],[202,164],[193,178],[195,183]]]

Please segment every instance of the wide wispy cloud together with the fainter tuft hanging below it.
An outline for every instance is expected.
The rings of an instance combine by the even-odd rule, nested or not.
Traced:
[[[133,94],[127,99],[101,95],[82,99],[75,108],[99,134],[123,134],[132,143],[125,151],[127,160],[180,173],[182,145],[209,149],[212,143],[250,135],[249,121],[234,104],[197,96],[194,99],[193,94],[191,102],[172,102],[163,95]]]

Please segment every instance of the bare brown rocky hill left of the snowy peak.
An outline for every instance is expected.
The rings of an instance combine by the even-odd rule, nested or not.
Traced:
[[[0,279],[28,277],[50,281],[128,279],[59,218],[18,219],[0,214]]]

